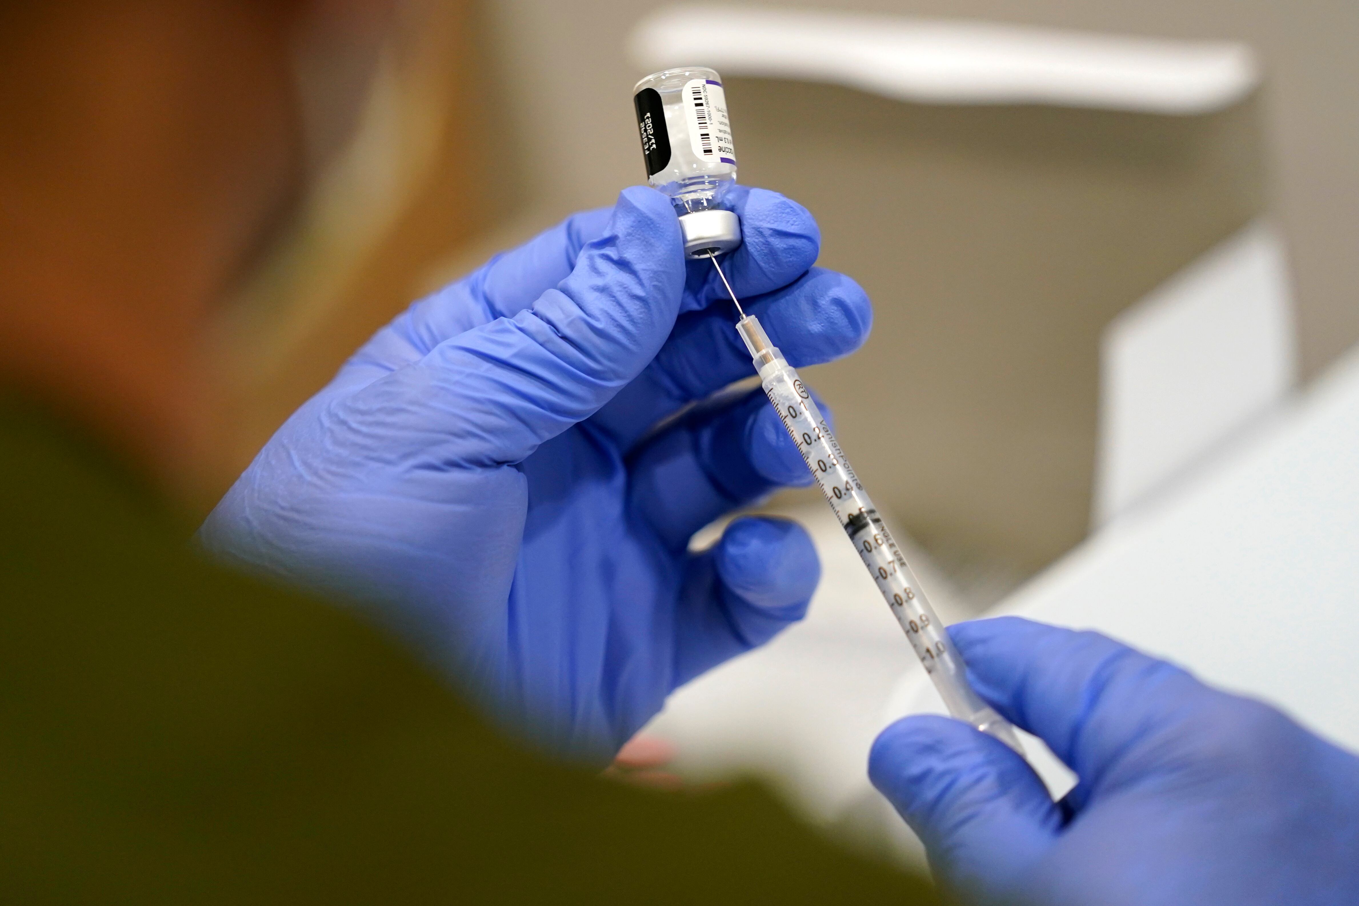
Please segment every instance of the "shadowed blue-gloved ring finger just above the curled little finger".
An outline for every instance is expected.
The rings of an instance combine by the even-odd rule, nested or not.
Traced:
[[[670,425],[629,458],[628,475],[629,505],[673,550],[723,513],[779,488],[811,484],[798,447],[758,390]]]

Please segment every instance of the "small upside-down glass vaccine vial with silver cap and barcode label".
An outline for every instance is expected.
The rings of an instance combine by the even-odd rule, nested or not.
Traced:
[[[726,204],[737,182],[737,148],[722,77],[705,67],[678,67],[647,76],[633,88],[647,182],[670,196],[685,254],[731,251],[741,219]]]

